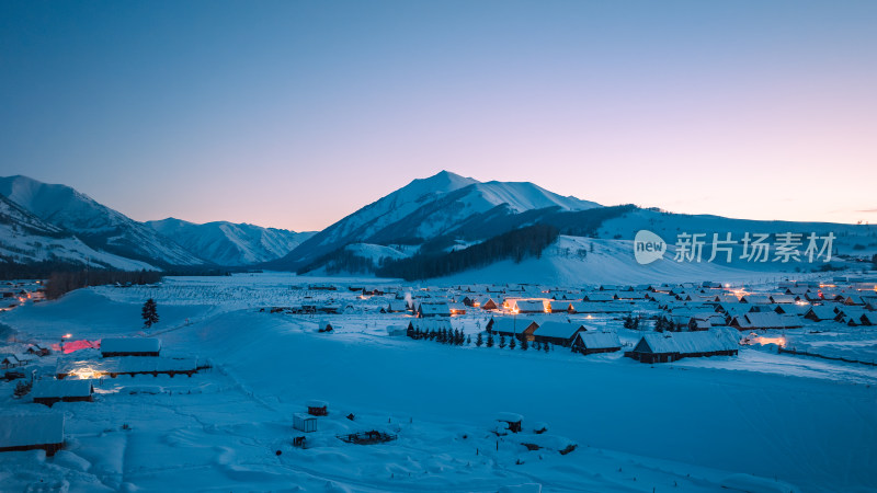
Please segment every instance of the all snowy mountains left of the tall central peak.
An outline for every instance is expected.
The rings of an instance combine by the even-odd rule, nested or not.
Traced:
[[[172,218],[138,222],[69,186],[26,176],[0,177],[0,196],[7,228],[0,234],[0,259],[18,264],[128,270],[241,266],[278,259],[310,234]]]

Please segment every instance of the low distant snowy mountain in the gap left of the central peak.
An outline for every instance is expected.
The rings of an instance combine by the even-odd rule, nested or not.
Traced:
[[[315,234],[227,221],[196,225],[175,218],[146,225],[202,259],[227,266],[280,259]]]

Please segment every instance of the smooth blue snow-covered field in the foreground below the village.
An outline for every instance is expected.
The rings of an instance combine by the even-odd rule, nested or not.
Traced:
[[[18,332],[18,342],[0,347],[5,353],[67,333],[144,334],[140,307],[153,298],[161,321],[147,334],[166,353],[212,365],[191,378],[95,380],[95,402],[52,409],[66,415],[65,450],[0,455],[0,490],[877,490],[875,367],[755,347],[643,365],[620,353],[447,346],[387,335],[388,325],[410,320],[379,313],[389,297],[293,288],[327,282],[398,285],[288,274],[180,277],[78,290],[0,314]],[[344,314],[270,312],[330,298]],[[488,317],[476,310],[454,324],[475,339]],[[318,333],[321,320],[334,333]],[[608,317],[590,322],[618,330],[625,343],[637,339]],[[877,333],[866,329],[785,335],[869,358]],[[57,358],[42,358],[39,374],[50,375]],[[0,382],[4,413],[45,412],[13,399],[13,387]],[[293,414],[311,399],[328,401],[329,415],[304,434],[293,429]],[[500,412],[522,414],[524,433],[497,436]],[[543,424],[547,432],[535,434]],[[366,446],[337,438],[372,429],[398,439]],[[293,446],[300,435],[305,448]]]

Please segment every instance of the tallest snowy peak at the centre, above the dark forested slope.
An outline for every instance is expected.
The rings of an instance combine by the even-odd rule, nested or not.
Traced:
[[[296,267],[350,243],[419,244],[487,214],[509,216],[555,208],[586,210],[599,204],[563,197],[532,183],[481,183],[448,171],[414,180],[304,242],[278,266]]]

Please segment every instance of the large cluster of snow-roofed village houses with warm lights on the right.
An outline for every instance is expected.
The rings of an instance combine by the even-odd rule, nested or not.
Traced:
[[[786,345],[785,331],[820,332],[877,322],[877,278],[865,275],[784,280],[758,289],[717,282],[581,288],[310,285],[301,289],[331,295],[311,296],[314,301],[304,306],[307,310],[296,306],[272,311],[342,316],[377,309],[387,316],[384,323],[390,335],[401,335],[403,326],[405,334],[414,340],[471,344],[471,337],[480,337],[490,339],[490,347],[497,339],[500,347],[505,344],[501,340],[581,355],[623,352],[648,364],[733,356],[741,342],[776,344],[781,351]],[[485,323],[475,330],[464,323],[478,318]],[[320,332],[333,325],[322,320]],[[750,335],[768,331],[781,333]]]

